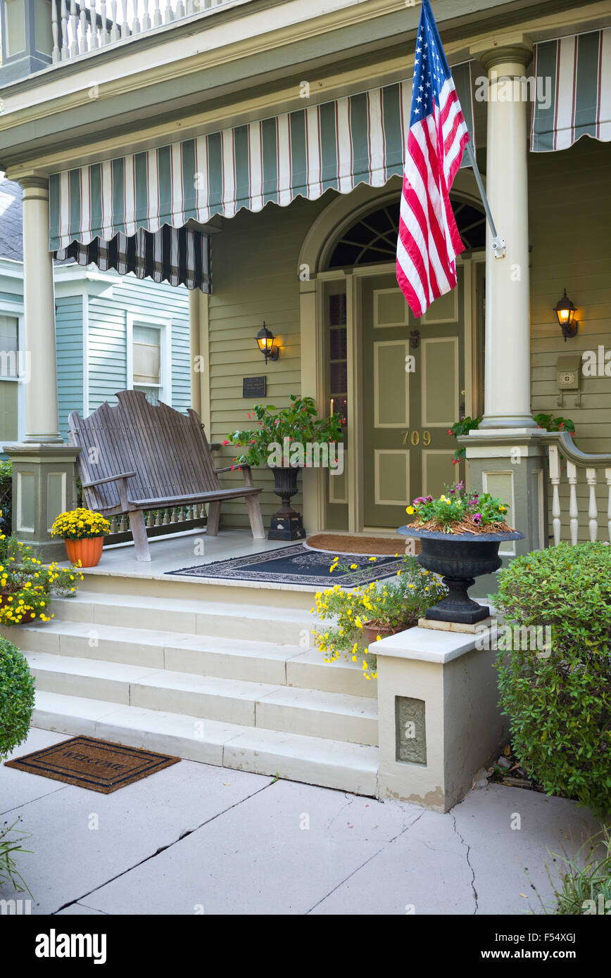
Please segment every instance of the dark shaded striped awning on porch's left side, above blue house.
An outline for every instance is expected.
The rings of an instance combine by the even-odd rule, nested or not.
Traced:
[[[71,242],[58,248],[58,261],[72,258],[79,265],[97,265],[103,272],[133,272],[137,279],[151,278],[170,286],[211,290],[209,236],[191,228],[164,225],[156,234],[139,228],[127,238],[118,233],[111,241],[94,238],[89,244]]]

